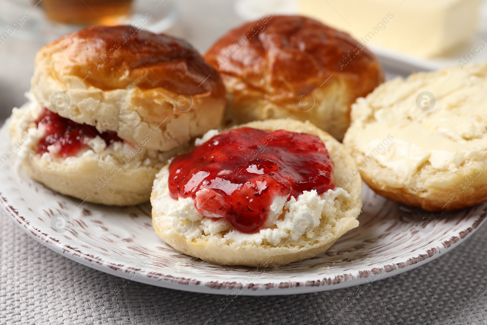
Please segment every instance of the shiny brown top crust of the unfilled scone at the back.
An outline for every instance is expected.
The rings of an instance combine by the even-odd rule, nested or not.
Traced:
[[[358,41],[301,16],[268,15],[244,24],[213,44],[205,59],[281,104],[311,93],[330,76],[353,83],[354,99],[383,80],[374,55]]]

